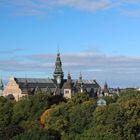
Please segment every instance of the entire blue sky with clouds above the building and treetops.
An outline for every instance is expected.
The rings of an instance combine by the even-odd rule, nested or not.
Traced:
[[[140,0],[0,0],[0,73],[140,86]]]

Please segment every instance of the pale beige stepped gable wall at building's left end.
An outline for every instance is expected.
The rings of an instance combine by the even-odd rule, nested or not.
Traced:
[[[18,101],[21,97],[26,96],[26,94],[22,94],[14,78],[10,78],[8,84],[4,88],[3,96]]]

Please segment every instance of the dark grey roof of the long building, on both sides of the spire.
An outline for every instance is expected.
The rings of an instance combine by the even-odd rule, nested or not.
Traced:
[[[14,78],[14,80],[19,85],[23,94],[28,94],[28,92],[34,93],[36,91],[53,93],[57,88],[56,81],[49,78]],[[77,82],[78,80],[71,80],[71,82],[69,82],[64,79],[62,87],[63,89],[76,88],[76,86],[78,86]],[[100,87],[96,80],[82,80],[82,85],[87,92],[95,91]]]

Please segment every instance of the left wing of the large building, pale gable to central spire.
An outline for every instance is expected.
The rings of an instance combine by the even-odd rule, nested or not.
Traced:
[[[54,92],[55,89],[56,86],[51,79],[11,77],[4,88],[3,96],[18,101],[21,97],[27,95],[33,95],[40,91]]]

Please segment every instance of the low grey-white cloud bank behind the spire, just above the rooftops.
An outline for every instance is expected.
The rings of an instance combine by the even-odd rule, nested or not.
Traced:
[[[22,56],[23,57],[23,56]],[[65,77],[68,71],[73,78],[78,78],[80,71],[84,79],[105,80],[111,86],[140,85],[140,57],[106,55],[96,52],[80,52],[62,54]],[[24,56],[23,60],[0,60],[0,69],[5,72],[40,73],[40,76],[52,77],[56,54],[33,54]],[[30,76],[29,76],[30,77]]]

